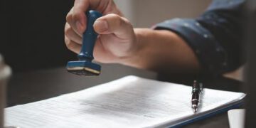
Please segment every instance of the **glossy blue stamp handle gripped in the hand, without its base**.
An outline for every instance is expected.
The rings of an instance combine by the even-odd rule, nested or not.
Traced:
[[[82,49],[78,54],[79,60],[87,60],[91,62],[93,60],[93,49],[95,46],[95,41],[97,40],[97,33],[93,28],[93,23],[95,23],[97,18],[100,18],[102,14],[98,11],[86,11],[87,16],[87,26],[85,32],[82,34]]]

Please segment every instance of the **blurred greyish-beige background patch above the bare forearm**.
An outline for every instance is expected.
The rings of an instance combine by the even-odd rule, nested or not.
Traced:
[[[211,0],[114,0],[134,27],[151,27],[170,18],[195,18]]]

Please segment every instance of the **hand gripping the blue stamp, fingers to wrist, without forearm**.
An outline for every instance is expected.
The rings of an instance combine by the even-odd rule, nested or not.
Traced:
[[[65,44],[68,49],[80,52],[87,21],[85,11],[89,7],[103,14],[94,23],[95,31],[99,33],[94,49],[95,60],[119,63],[136,53],[137,39],[132,24],[123,17],[112,0],[75,0],[65,24]]]

